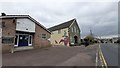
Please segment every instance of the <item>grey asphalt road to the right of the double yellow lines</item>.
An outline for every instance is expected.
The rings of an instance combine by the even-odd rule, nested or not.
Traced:
[[[101,51],[108,66],[118,66],[118,44],[100,44]]]

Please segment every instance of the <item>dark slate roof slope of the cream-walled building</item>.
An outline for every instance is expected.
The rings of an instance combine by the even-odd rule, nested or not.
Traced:
[[[75,20],[75,19],[72,19],[72,20],[67,21],[67,22],[64,22],[64,23],[62,23],[62,24],[59,24],[59,25],[50,27],[50,28],[48,28],[48,30],[49,30],[49,31],[55,31],[55,30],[67,28],[67,27],[69,27],[69,26],[73,23],[74,20]]]

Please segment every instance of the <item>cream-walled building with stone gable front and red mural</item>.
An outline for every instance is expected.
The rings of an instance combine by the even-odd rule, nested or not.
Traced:
[[[51,31],[52,45],[78,45],[80,43],[80,28],[76,19],[64,22],[48,29]]]

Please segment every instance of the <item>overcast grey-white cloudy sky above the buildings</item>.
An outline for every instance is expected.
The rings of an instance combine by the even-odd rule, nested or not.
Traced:
[[[66,1],[66,0],[65,0]],[[6,1],[0,2],[0,11],[6,14],[28,14],[46,28],[76,18],[84,37],[92,30],[94,35],[118,33],[118,2],[90,1]]]

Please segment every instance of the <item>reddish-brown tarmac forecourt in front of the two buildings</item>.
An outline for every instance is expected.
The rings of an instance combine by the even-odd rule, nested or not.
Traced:
[[[2,55],[3,66],[95,66],[98,45],[54,46]]]

